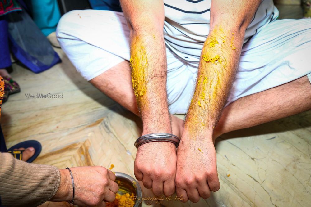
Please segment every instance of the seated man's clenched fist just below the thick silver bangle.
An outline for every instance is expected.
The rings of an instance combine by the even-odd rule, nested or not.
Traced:
[[[155,195],[175,192],[176,147],[170,142],[149,142],[137,150],[134,173]]]

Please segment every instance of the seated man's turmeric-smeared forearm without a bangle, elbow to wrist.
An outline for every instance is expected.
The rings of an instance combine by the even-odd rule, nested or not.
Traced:
[[[228,27],[212,28],[202,48],[197,84],[185,120],[186,132],[198,137],[212,137],[239,62],[244,32],[224,28]]]

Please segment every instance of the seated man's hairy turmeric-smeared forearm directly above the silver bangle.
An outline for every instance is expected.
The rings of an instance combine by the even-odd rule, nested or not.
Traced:
[[[171,133],[166,92],[166,53],[157,29],[131,31],[132,83],[143,121],[143,133]]]

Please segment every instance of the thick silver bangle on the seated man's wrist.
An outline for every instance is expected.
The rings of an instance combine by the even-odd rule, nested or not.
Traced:
[[[152,134],[145,134],[141,137],[139,137],[136,142],[135,142],[135,147],[138,149],[139,146],[141,146],[142,144],[146,144],[148,142],[171,142],[174,145],[176,145],[176,147],[178,147],[179,145],[179,138],[174,135],[174,134],[170,134],[170,133],[152,133]]]

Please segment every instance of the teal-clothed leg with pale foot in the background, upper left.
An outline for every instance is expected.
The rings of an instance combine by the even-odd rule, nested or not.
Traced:
[[[55,31],[61,17],[57,0],[26,0],[32,18],[54,47],[60,47]]]

